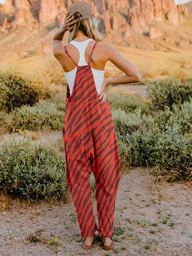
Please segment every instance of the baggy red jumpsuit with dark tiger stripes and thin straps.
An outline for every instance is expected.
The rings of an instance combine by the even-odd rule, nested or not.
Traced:
[[[97,44],[95,42],[93,50]],[[69,58],[77,65],[67,52]],[[89,64],[77,65],[74,87],[70,95],[67,83],[65,126],[62,130],[66,157],[66,179],[73,200],[81,236],[99,231],[113,237],[115,199],[120,178],[120,157],[117,136],[108,99],[97,96]],[[99,228],[91,202],[90,174],[96,182]]]

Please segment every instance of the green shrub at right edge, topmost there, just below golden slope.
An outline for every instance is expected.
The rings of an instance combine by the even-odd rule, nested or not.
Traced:
[[[178,79],[167,78],[157,80],[147,87],[151,102],[149,102],[152,110],[165,110],[166,107],[173,110],[173,104],[183,104],[184,101],[190,101],[192,97],[192,82],[186,79],[181,83]]]

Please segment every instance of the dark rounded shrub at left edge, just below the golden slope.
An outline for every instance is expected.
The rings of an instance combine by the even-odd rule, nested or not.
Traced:
[[[40,98],[50,98],[51,92],[32,74],[26,76],[22,71],[0,71],[0,110],[10,112],[15,107],[33,106]]]

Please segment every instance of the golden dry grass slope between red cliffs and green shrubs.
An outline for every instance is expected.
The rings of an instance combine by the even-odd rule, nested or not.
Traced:
[[[183,27],[189,27],[191,20],[187,22],[187,18],[184,19],[183,25],[176,28],[169,23],[164,24],[161,29],[175,31],[178,29],[178,38],[182,34]],[[158,26],[157,26],[158,27]],[[17,31],[11,32],[7,37],[1,35],[0,37],[0,58],[3,60],[0,63],[1,69],[19,68],[28,74],[33,71],[41,75],[42,80],[49,83],[66,83],[64,71],[60,63],[55,59],[52,54],[52,36],[58,28],[51,31],[46,31],[45,28],[36,27],[33,28],[29,25],[29,28],[20,28]],[[186,28],[185,28],[186,29]],[[180,34],[179,34],[180,33]],[[189,33],[190,34],[190,33]],[[67,43],[66,33],[63,38],[63,43]],[[190,35],[188,35],[190,36]],[[6,40],[6,42],[1,43],[1,40]],[[10,39],[9,39],[10,38]],[[104,37],[105,40],[110,39],[110,37]],[[25,39],[25,40],[24,40]],[[147,37],[135,37],[135,40],[147,40]],[[176,40],[177,38],[175,38]],[[130,40],[132,40],[130,38]],[[141,73],[142,79],[157,79],[157,78],[167,78],[169,76],[178,78],[181,82],[185,78],[192,76],[192,65],[191,58],[192,52],[187,49],[182,49],[176,47],[174,43],[166,43],[163,41],[163,36],[151,42],[151,47],[153,49],[154,45],[162,45],[161,50],[143,50],[134,47],[113,45],[119,53],[129,60]],[[136,42],[136,41],[135,41]],[[152,44],[153,43],[153,44]],[[47,52],[42,52],[43,47],[45,47]],[[133,45],[133,43],[131,44]],[[145,45],[145,43],[143,44]],[[170,48],[169,52],[164,51]],[[7,51],[6,49],[9,49]],[[23,51],[34,51],[33,54],[26,58],[23,58],[21,53]],[[105,79],[118,77],[124,75],[121,70],[119,70],[113,63],[107,61],[105,67]]]

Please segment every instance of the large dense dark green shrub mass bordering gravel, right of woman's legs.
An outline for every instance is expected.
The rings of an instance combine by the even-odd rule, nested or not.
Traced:
[[[127,163],[128,167],[150,167],[156,180],[192,181],[192,133],[181,135],[177,124],[165,131],[135,131],[121,137],[118,146],[123,172]]]

